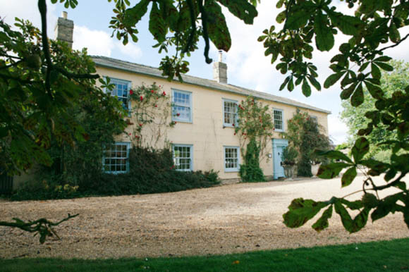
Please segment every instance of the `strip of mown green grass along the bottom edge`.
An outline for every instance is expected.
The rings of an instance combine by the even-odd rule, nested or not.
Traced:
[[[157,259],[0,259],[0,271],[409,271],[409,238]]]

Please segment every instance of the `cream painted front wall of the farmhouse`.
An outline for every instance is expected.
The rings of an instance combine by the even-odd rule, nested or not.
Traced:
[[[191,92],[192,96],[192,123],[177,122],[174,128],[167,131],[167,139],[173,144],[192,144],[193,145],[193,170],[219,171],[219,177],[223,179],[238,178],[238,172],[226,172],[224,170],[224,146],[239,147],[238,137],[233,135],[233,128],[223,127],[223,99],[231,99],[240,102],[245,96],[218,90],[207,89],[196,85],[182,84],[181,82],[168,82],[160,78],[151,78],[145,75],[138,75],[121,70],[109,68],[97,68],[97,73],[102,76],[109,76],[121,80],[132,82],[133,87],[145,83],[151,85],[156,82],[161,85],[167,95],[171,95],[172,89],[178,89],[185,92]],[[295,106],[279,104],[272,101],[262,100],[268,104],[270,109],[283,110],[284,130],[286,130],[286,121],[292,118],[296,111]],[[317,111],[307,110],[312,116],[317,116],[321,124],[328,133],[327,114]],[[169,122],[171,116],[169,116]],[[135,122],[134,122],[135,123]],[[138,125],[138,124],[135,124]],[[127,132],[132,132],[133,128],[128,127]],[[274,132],[274,138],[281,138],[280,132]],[[124,135],[118,140],[129,142],[128,135]],[[162,141],[163,142],[163,141]],[[272,154],[272,141],[267,144],[266,154],[263,156],[260,166],[264,175],[273,174],[272,159],[267,154]],[[240,158],[243,162],[243,158]]]

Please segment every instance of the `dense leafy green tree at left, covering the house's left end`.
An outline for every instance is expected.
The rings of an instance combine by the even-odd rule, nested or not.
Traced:
[[[39,1],[39,10],[45,29],[44,1]],[[0,173],[9,175],[27,171],[35,163],[56,166],[62,158],[53,161],[51,146],[74,147],[88,140],[80,113],[97,108],[94,116],[119,129],[124,113],[118,100],[103,91],[108,87],[104,80],[96,86],[99,75],[92,75],[94,62],[85,49],[71,51],[66,44],[49,41],[28,21],[17,19],[16,26],[19,30],[12,30],[0,20]],[[0,225],[39,234],[44,242],[56,235],[53,226],[75,216],[68,214],[57,223],[14,218]]]

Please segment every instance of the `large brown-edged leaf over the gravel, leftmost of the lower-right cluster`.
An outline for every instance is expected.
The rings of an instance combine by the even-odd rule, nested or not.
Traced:
[[[288,211],[283,214],[284,224],[288,228],[298,228],[327,205],[324,202],[315,202],[312,199],[293,199],[290,206],[288,206]]]

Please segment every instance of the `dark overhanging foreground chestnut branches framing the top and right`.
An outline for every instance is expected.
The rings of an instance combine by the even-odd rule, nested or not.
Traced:
[[[57,0],[51,0],[51,2],[55,4]],[[66,7],[75,8],[78,1],[61,0],[61,2]],[[114,0],[114,2],[116,16],[111,20],[111,27],[114,30],[113,35],[122,39],[124,44],[128,42],[128,36],[134,42],[138,40],[136,25],[150,6],[149,31],[158,42],[154,47],[159,47],[159,51],[168,51],[168,47],[176,49],[174,56],[171,58],[166,56],[160,64],[161,70],[169,80],[175,75],[181,79],[181,73],[188,71],[188,63],[183,58],[197,49],[197,42],[201,37],[204,39],[204,58],[207,63],[212,62],[208,56],[210,41],[217,49],[228,51],[230,48],[231,39],[219,4],[226,6],[228,11],[243,20],[244,23],[252,24],[257,16],[256,0],[141,0],[129,8],[130,1],[128,0]],[[276,22],[282,24],[283,27],[275,31],[275,27],[271,26],[264,30],[263,35],[259,38],[266,48],[266,56],[271,55],[271,63],[279,60],[276,69],[283,74],[289,74],[280,89],[287,87],[289,91],[292,91],[295,86],[301,85],[303,94],[308,97],[311,93],[311,86],[318,90],[321,89],[321,84],[317,81],[317,68],[309,61],[315,50],[313,45],[319,51],[329,51],[334,47],[335,36],[338,32],[343,33],[350,39],[341,44],[339,54],[331,58],[330,68],[334,74],[326,78],[324,87],[330,87],[341,80],[341,99],[350,99],[352,106],[360,106],[364,102],[364,87],[375,100],[376,110],[365,113],[365,116],[371,121],[367,128],[358,132],[361,137],[353,145],[352,159],[338,151],[324,152],[322,155],[327,158],[338,159],[341,162],[330,163],[319,169],[321,178],[333,178],[343,168],[347,168],[341,179],[342,185],[347,186],[355,179],[358,166],[369,168],[369,171],[365,173],[365,180],[362,181],[363,199],[357,202],[349,202],[336,197],[327,202],[294,199],[288,207],[289,211],[284,215],[284,222],[289,227],[299,227],[313,218],[321,209],[329,206],[313,225],[316,230],[322,230],[328,226],[328,218],[332,215],[333,207],[341,216],[344,227],[350,232],[363,228],[371,211],[372,221],[386,216],[389,212],[401,212],[405,223],[409,225],[409,196],[405,183],[403,183],[403,178],[409,172],[407,163],[409,154],[398,154],[402,150],[409,150],[409,86],[394,92],[392,97],[386,97],[380,86],[381,70],[393,70],[388,63],[391,58],[384,56],[384,52],[397,47],[409,37],[409,35],[401,37],[401,29],[409,25],[409,2],[405,0],[345,0],[344,2],[348,8],[355,9],[354,16],[338,12],[331,0],[279,0],[276,7],[281,9],[281,13],[276,17]],[[41,95],[38,98],[44,97],[46,101],[49,101],[54,98],[50,86],[51,79],[55,75],[66,78],[78,78],[78,75],[73,77],[72,73],[51,63],[45,31],[47,7],[45,0],[39,0],[38,3],[42,15],[42,51],[46,63],[45,68],[47,68],[41,74],[40,89],[42,91],[39,92]],[[392,44],[385,45],[386,42]],[[27,60],[28,58],[23,57],[22,59]],[[2,66],[14,66],[15,63],[16,61],[11,64],[4,63]],[[28,80],[25,73],[2,75],[3,78],[5,76],[8,80],[14,80],[14,85],[19,85],[19,80],[22,82]],[[55,95],[63,96],[66,92],[61,90]],[[6,100],[1,101],[1,105],[4,102]],[[38,102],[44,103],[41,99]],[[51,109],[56,109],[56,107],[51,105]],[[47,116],[52,116],[52,112],[50,114]],[[43,130],[53,128],[51,122],[46,122],[49,118],[43,119]],[[397,133],[398,140],[383,143],[388,144],[392,149],[391,163],[364,159],[370,149],[370,143],[366,137],[371,135],[373,129],[381,123],[386,125],[388,130],[395,130]],[[14,123],[11,122],[11,124]],[[4,131],[4,128],[2,130]],[[16,130],[19,129],[16,128]],[[4,134],[4,132],[1,133],[1,135]],[[80,134],[81,132],[77,131],[76,135]],[[44,135],[47,136],[47,134]],[[27,141],[27,138],[22,138],[20,142],[24,140]],[[35,149],[34,144],[32,144],[32,149]],[[374,184],[371,177],[381,173],[386,173],[386,185]],[[379,197],[374,199],[371,197],[373,194],[367,192],[369,190],[377,192],[388,187],[396,187],[400,192],[384,199]],[[368,199],[375,201],[369,203]],[[352,219],[347,208],[360,209],[360,213]]]

